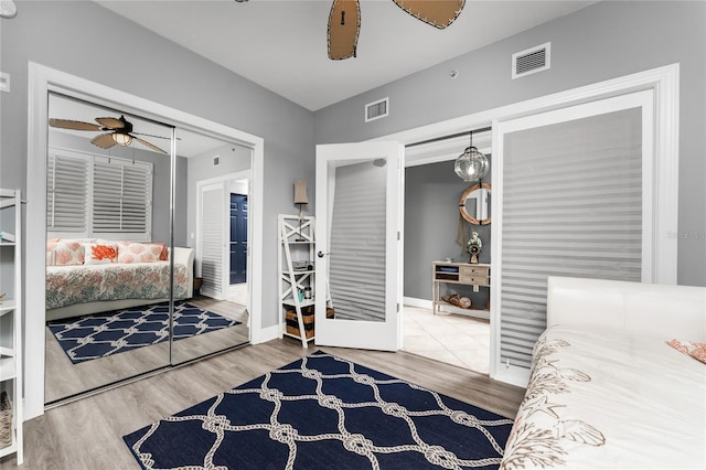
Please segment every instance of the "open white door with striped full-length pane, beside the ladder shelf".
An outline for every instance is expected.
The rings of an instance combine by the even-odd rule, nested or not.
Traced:
[[[403,160],[398,142],[317,146],[317,345],[402,348]]]

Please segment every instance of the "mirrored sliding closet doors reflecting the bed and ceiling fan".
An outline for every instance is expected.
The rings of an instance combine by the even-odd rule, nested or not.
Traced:
[[[228,238],[249,149],[58,93],[49,116],[45,403],[246,343],[247,302],[229,284],[203,289],[197,245],[212,233],[197,221]],[[239,179],[224,183],[223,215],[196,201],[199,157],[214,150]]]

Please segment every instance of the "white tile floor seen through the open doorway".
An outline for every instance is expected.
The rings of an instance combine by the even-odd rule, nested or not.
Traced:
[[[407,352],[490,373],[490,322],[473,317],[437,313],[405,306],[404,345]]]

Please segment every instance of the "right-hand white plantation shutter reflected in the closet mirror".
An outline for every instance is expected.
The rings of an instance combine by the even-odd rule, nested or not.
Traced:
[[[149,234],[151,163],[95,158],[93,234]]]

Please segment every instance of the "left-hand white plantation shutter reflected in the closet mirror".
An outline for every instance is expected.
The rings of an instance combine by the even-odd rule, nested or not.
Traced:
[[[89,159],[50,152],[46,165],[46,229],[85,233]]]

